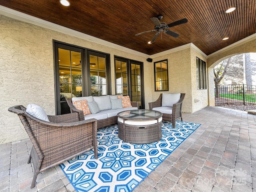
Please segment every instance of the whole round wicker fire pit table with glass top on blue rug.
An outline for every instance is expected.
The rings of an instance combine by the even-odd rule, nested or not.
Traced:
[[[125,142],[146,144],[162,138],[162,113],[153,110],[128,110],[117,114],[118,137]]]

